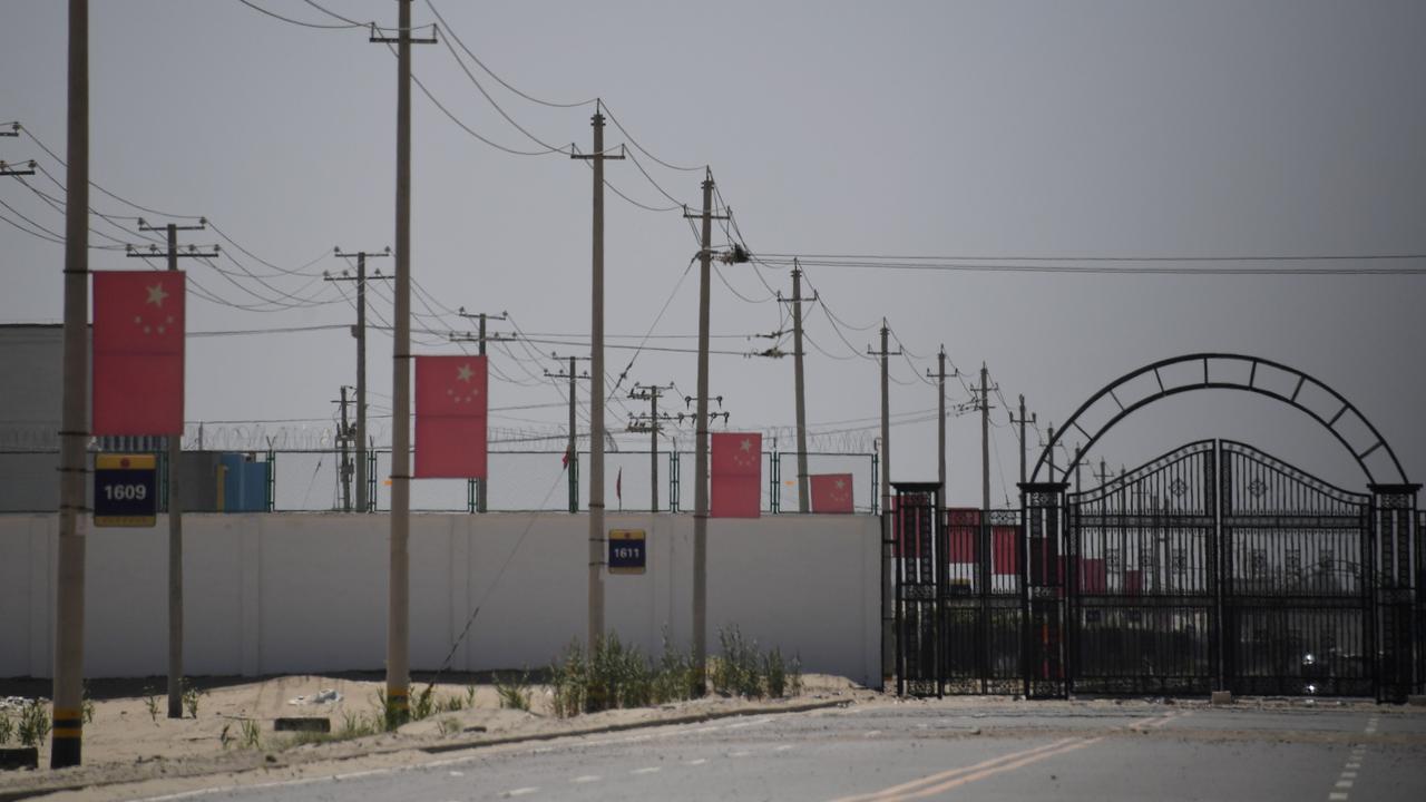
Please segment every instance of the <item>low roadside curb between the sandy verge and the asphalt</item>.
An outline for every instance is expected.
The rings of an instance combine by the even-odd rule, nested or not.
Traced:
[[[359,752],[344,753],[344,755],[314,755],[314,759],[307,761],[284,761],[278,759],[271,763],[260,763],[254,766],[241,766],[231,769],[218,771],[195,771],[194,773],[164,773],[143,779],[118,779],[118,781],[84,781],[71,782],[64,785],[44,785],[44,786],[26,786],[26,788],[9,788],[0,789],[0,802],[19,802],[20,799],[33,799],[36,796],[46,796],[50,793],[64,793],[67,791],[84,791],[87,788],[108,788],[116,785],[137,785],[140,782],[148,782],[151,779],[193,779],[201,776],[211,776],[218,773],[247,773],[255,771],[271,771],[282,769],[289,766],[299,766],[315,762],[345,762],[355,761],[361,758],[368,758],[372,755],[394,755],[399,752],[424,752],[426,755],[442,755],[448,752],[463,752],[468,749],[482,749],[488,746],[508,746],[511,743],[528,743],[540,741],[556,741],[560,738],[583,738],[589,735],[605,735],[610,732],[627,732],[630,729],[652,729],[656,726],[680,726],[687,724],[702,724],[706,721],[717,721],[726,718],[749,718],[760,715],[777,715],[777,714],[804,714],[830,708],[844,708],[856,704],[854,698],[846,699],[820,699],[816,702],[800,702],[796,705],[766,705],[760,708],[740,708],[736,711],[704,711],[699,714],[676,715],[669,718],[657,718],[647,721],[630,721],[630,722],[615,722],[599,726],[586,726],[582,729],[565,729],[565,731],[549,731],[549,732],[529,732],[522,735],[505,735],[498,738],[469,738],[459,742],[446,743],[408,743],[408,745],[389,745],[372,749],[364,749]]]

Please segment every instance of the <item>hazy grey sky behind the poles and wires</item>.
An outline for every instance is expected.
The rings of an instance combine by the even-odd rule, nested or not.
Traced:
[[[334,21],[298,0],[254,1],[301,20]],[[712,166],[754,253],[1426,251],[1422,3],[432,1],[511,84],[562,103],[602,97],[659,158]],[[388,0],[324,6],[356,20],[394,24],[396,16]],[[297,27],[237,0],[96,0],[91,7],[98,184],[157,210],[208,215],[242,247],[288,270],[334,244],[375,250],[392,243],[395,59],[369,44],[364,30]],[[434,19],[425,0],[415,3],[414,17]],[[66,4],[11,0],[0,19],[0,121],[20,120],[63,156]],[[418,47],[415,71],[479,134],[516,150],[543,150],[492,108],[446,46]],[[590,147],[590,106],[532,104],[489,76],[475,76],[535,137]],[[560,154],[512,156],[482,144],[419,93],[414,110],[412,264],[421,287],[449,308],[509,310],[536,340],[588,340],[589,171]],[[625,141],[607,128],[609,146]],[[37,158],[63,180],[58,164],[26,137],[0,140],[0,158]],[[699,173],[667,170],[647,157],[642,164],[679,203],[699,205]],[[607,170],[610,183],[639,203],[670,205],[633,163],[609,163]],[[43,177],[33,186],[57,191]],[[13,180],[0,186],[0,200],[63,230],[61,215]],[[104,213],[141,214],[100,193],[93,203]],[[103,221],[96,227],[138,241],[133,231]],[[656,333],[692,335],[696,273],[679,281],[696,243],[682,214],[645,211],[609,194],[606,231],[607,331],[645,334],[677,285]],[[222,240],[202,233],[185,241]],[[63,248],[0,225],[0,321],[57,321]],[[274,273],[234,255],[254,273]],[[108,251],[91,257],[94,270],[138,265]],[[217,265],[240,270],[225,260]],[[1423,268],[1426,261],[1400,265]],[[312,275],[274,275],[264,278],[268,287],[197,263],[184,267],[225,304],[279,298],[272,288],[328,301],[257,313],[191,297],[190,331],[347,324],[354,317],[337,287],[312,283]],[[322,258],[305,270],[342,267]],[[742,337],[780,328],[779,304],[753,267],[722,273],[727,284],[713,281],[713,331],[736,337],[714,344],[766,348],[766,340]],[[790,290],[786,271],[763,270],[761,278]],[[809,345],[809,420],[816,430],[876,425],[878,372],[864,358],[876,331],[860,327],[884,315],[908,351],[893,365],[898,414],[934,408],[935,391],[918,377],[943,342],[964,371],[988,362],[1004,395],[1024,392],[1041,422],[1062,421],[1107,381],[1154,360],[1232,351],[1286,362],[1336,387],[1390,441],[1410,478],[1426,477],[1426,275],[823,267],[810,268],[809,278],[848,324],[840,334],[853,347],[827,315],[809,313],[816,344]],[[385,291],[374,294],[378,317],[389,318],[386,298]],[[416,311],[428,313],[419,304]],[[442,314],[416,324],[439,333],[462,328],[435,311]],[[418,351],[453,352],[441,340],[422,337]],[[692,340],[650,344],[687,347]],[[552,348],[580,351],[530,347]],[[342,330],[191,338],[185,417],[312,418],[308,425],[327,427],[329,400],[352,381],[352,352]],[[617,374],[629,355],[612,350],[610,371]],[[493,382],[495,407],[550,404],[501,412],[492,425],[562,425],[560,391],[532,378],[558,365],[523,348],[496,351],[492,364],[522,382]],[[374,407],[389,405],[389,338],[378,335]],[[674,381],[692,394],[694,357],[645,352],[630,381]],[[712,391],[724,397],[734,430],[793,420],[790,360],[717,355]],[[950,397],[953,405],[965,400],[958,382]],[[992,414],[1005,422],[1004,408]],[[609,420],[622,428],[625,410],[612,404]],[[977,421],[960,417],[948,428],[951,498],[975,501]],[[858,434],[870,442],[874,431]],[[894,478],[934,477],[934,420],[893,430]],[[1246,394],[1189,394],[1151,407],[1107,438],[1102,454],[1135,465],[1219,435],[1349,488],[1363,484],[1350,457],[1319,427]],[[690,448],[692,431],[680,441]],[[1001,501],[1001,475],[1012,479],[1015,472],[1011,430],[998,428],[995,444],[994,497]]]

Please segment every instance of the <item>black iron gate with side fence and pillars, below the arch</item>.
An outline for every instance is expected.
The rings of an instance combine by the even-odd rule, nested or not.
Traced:
[[[1185,445],[1022,511],[904,485],[903,692],[1376,696],[1426,689],[1415,485],[1336,488],[1248,445]],[[898,485],[900,489],[900,485]]]

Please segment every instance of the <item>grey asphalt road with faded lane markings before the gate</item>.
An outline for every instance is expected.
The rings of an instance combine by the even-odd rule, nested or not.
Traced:
[[[1420,802],[1426,712],[907,702],[515,745],[183,796]]]

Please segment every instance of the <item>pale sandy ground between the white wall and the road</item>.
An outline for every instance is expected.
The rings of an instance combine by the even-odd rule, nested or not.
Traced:
[[[858,689],[847,679],[826,675],[804,676],[803,694],[794,699],[733,699],[709,696],[657,708],[607,711],[558,718],[552,695],[542,685],[529,688],[530,709],[502,709],[489,676],[443,676],[435,685],[438,702],[459,701],[462,709],[441,712],[402,726],[398,732],[324,743],[304,743],[299,736],[274,732],[279,716],[325,716],[332,732],[344,721],[372,718],[381,708],[379,675],[299,675],[268,679],[195,679],[201,691],[197,716],[167,718],[164,678],[94,681],[90,696],[94,719],[84,726],[84,765],[48,769],[48,742],[40,751],[39,771],[0,772],[0,801],[14,795],[90,785],[54,799],[131,799],[175,793],[195,788],[250,785],[275,779],[327,776],[369,768],[386,768],[432,759],[426,751],[459,748],[462,743],[499,743],[508,739],[553,736],[585,729],[622,728],[677,721],[697,715],[727,715],[787,708],[809,702],[867,702],[878,694]],[[412,695],[428,679],[412,682]],[[0,698],[46,696],[48,682],[0,681]],[[314,704],[314,696],[335,691],[339,698]],[[472,706],[465,702],[473,698]],[[157,715],[151,715],[150,704]],[[11,714],[13,718],[13,714]],[[250,735],[258,734],[252,743]],[[16,746],[11,741],[7,746]],[[124,785],[117,785],[124,783]],[[130,785],[140,783],[140,785]]]

